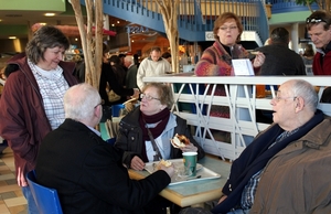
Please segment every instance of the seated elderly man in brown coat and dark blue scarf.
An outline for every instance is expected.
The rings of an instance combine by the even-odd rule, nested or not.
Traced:
[[[331,120],[303,79],[280,85],[274,124],[231,168],[212,213],[331,213]],[[209,211],[184,210],[182,214]]]

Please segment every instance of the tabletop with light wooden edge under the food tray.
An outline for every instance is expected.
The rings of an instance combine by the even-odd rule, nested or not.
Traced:
[[[221,174],[218,179],[196,180],[194,182],[180,183],[167,186],[160,195],[181,207],[201,204],[221,197],[222,188],[229,174],[231,163],[222,161],[213,156],[206,156],[199,161],[203,167]],[[129,170],[131,179],[140,180],[149,175],[147,171]]]

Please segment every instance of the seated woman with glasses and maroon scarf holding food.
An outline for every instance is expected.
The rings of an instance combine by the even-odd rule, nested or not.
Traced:
[[[182,158],[184,151],[197,151],[197,159],[202,159],[204,150],[193,139],[186,121],[170,113],[173,103],[171,88],[161,83],[149,83],[141,93],[139,108],[119,122],[115,147],[125,151],[122,163],[134,170],[143,170],[146,162]],[[172,147],[170,139],[175,133],[184,135],[190,143],[181,149]],[[145,211],[166,214],[166,207],[178,208],[169,201],[156,197]]]

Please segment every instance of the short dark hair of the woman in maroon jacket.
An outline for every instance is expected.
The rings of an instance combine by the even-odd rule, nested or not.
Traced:
[[[32,63],[38,64],[40,60],[45,60],[44,53],[46,49],[55,46],[67,50],[70,41],[61,30],[55,26],[44,25],[34,33],[32,40],[26,45],[25,53]]]

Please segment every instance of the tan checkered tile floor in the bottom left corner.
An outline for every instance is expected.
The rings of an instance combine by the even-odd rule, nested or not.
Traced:
[[[0,153],[0,214],[26,214],[26,200],[17,184],[13,153]]]

